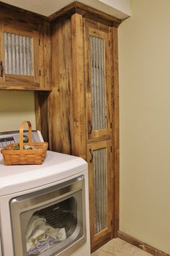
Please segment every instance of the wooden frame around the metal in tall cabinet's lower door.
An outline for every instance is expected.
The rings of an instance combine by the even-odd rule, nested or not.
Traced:
[[[106,148],[106,170],[107,170],[107,226],[97,234],[94,232],[94,166],[93,166],[93,151]],[[90,205],[90,234],[91,245],[95,247],[95,243],[99,243],[101,237],[112,236],[112,218],[113,218],[113,179],[112,179],[112,142],[111,140],[104,140],[100,142],[94,142],[87,145],[87,161],[89,165],[89,205]],[[93,248],[92,248],[93,250]]]

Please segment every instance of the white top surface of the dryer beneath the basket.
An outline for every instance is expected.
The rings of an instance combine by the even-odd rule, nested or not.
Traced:
[[[0,153],[0,197],[66,179],[87,170],[82,158],[48,151],[42,165],[5,166]]]

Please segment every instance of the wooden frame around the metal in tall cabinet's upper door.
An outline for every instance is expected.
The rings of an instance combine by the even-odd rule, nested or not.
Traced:
[[[106,129],[93,130],[92,127],[92,92],[91,92],[91,60],[90,60],[90,36],[101,38],[104,40],[104,100],[105,100],[105,120]],[[111,133],[111,117],[110,117],[110,69],[109,55],[112,54],[109,48],[109,33],[97,30],[92,27],[85,28],[85,70],[86,70],[86,118],[88,139],[97,137],[106,137]],[[108,47],[106,47],[108,44]]]

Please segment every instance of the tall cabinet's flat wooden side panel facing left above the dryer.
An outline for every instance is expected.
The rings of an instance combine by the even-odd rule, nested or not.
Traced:
[[[52,26],[52,87],[50,93],[50,149],[73,152],[71,21]]]

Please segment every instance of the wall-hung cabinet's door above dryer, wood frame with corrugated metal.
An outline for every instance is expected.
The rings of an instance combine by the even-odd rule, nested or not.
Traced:
[[[0,86],[40,87],[38,31],[1,24]]]

